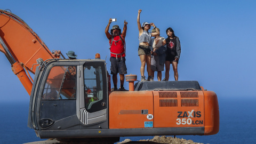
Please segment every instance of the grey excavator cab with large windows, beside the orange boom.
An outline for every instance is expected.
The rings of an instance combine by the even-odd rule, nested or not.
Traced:
[[[105,64],[100,59],[52,59],[38,66],[30,95],[28,126],[41,138],[63,135],[52,131],[108,129]]]

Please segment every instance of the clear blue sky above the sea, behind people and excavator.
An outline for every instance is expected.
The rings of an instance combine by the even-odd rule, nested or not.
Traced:
[[[110,27],[121,29],[126,20],[127,73],[138,79],[137,15],[142,9],[141,23],[154,22],[165,38],[165,30],[172,27],[180,38],[179,80],[198,81],[221,99],[256,96],[255,6],[255,1],[3,1],[0,9],[10,9],[23,19],[50,50],[65,55],[73,50],[78,59],[94,59],[95,53],[107,57],[109,72],[104,31],[109,18],[117,18]],[[4,54],[0,61],[2,101],[29,101]],[[170,80],[174,80],[172,71]]]

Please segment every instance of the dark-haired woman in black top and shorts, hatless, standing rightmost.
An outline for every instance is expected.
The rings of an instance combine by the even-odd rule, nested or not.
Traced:
[[[167,44],[166,58],[165,58],[165,81],[169,81],[170,65],[174,71],[175,81],[178,81],[178,62],[180,59],[180,40],[175,36],[172,28],[166,29],[167,38],[165,39]]]

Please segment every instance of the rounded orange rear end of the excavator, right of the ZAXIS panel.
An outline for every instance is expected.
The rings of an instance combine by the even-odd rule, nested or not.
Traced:
[[[205,129],[204,135],[217,134],[219,132],[220,115],[217,95],[213,91],[204,92],[205,105]]]

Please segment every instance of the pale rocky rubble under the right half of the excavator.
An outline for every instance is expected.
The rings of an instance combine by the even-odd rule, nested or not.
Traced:
[[[118,142],[117,144],[121,143],[147,143],[147,144],[153,144],[153,143],[170,143],[170,144],[203,144],[198,142],[193,142],[193,140],[185,140],[185,139],[179,139],[179,138],[173,138],[173,137],[166,137],[166,136],[155,136],[153,139],[147,139],[147,140],[139,140],[137,141],[131,141],[130,139],[125,139],[122,142]],[[207,143],[208,144],[208,143]]]

